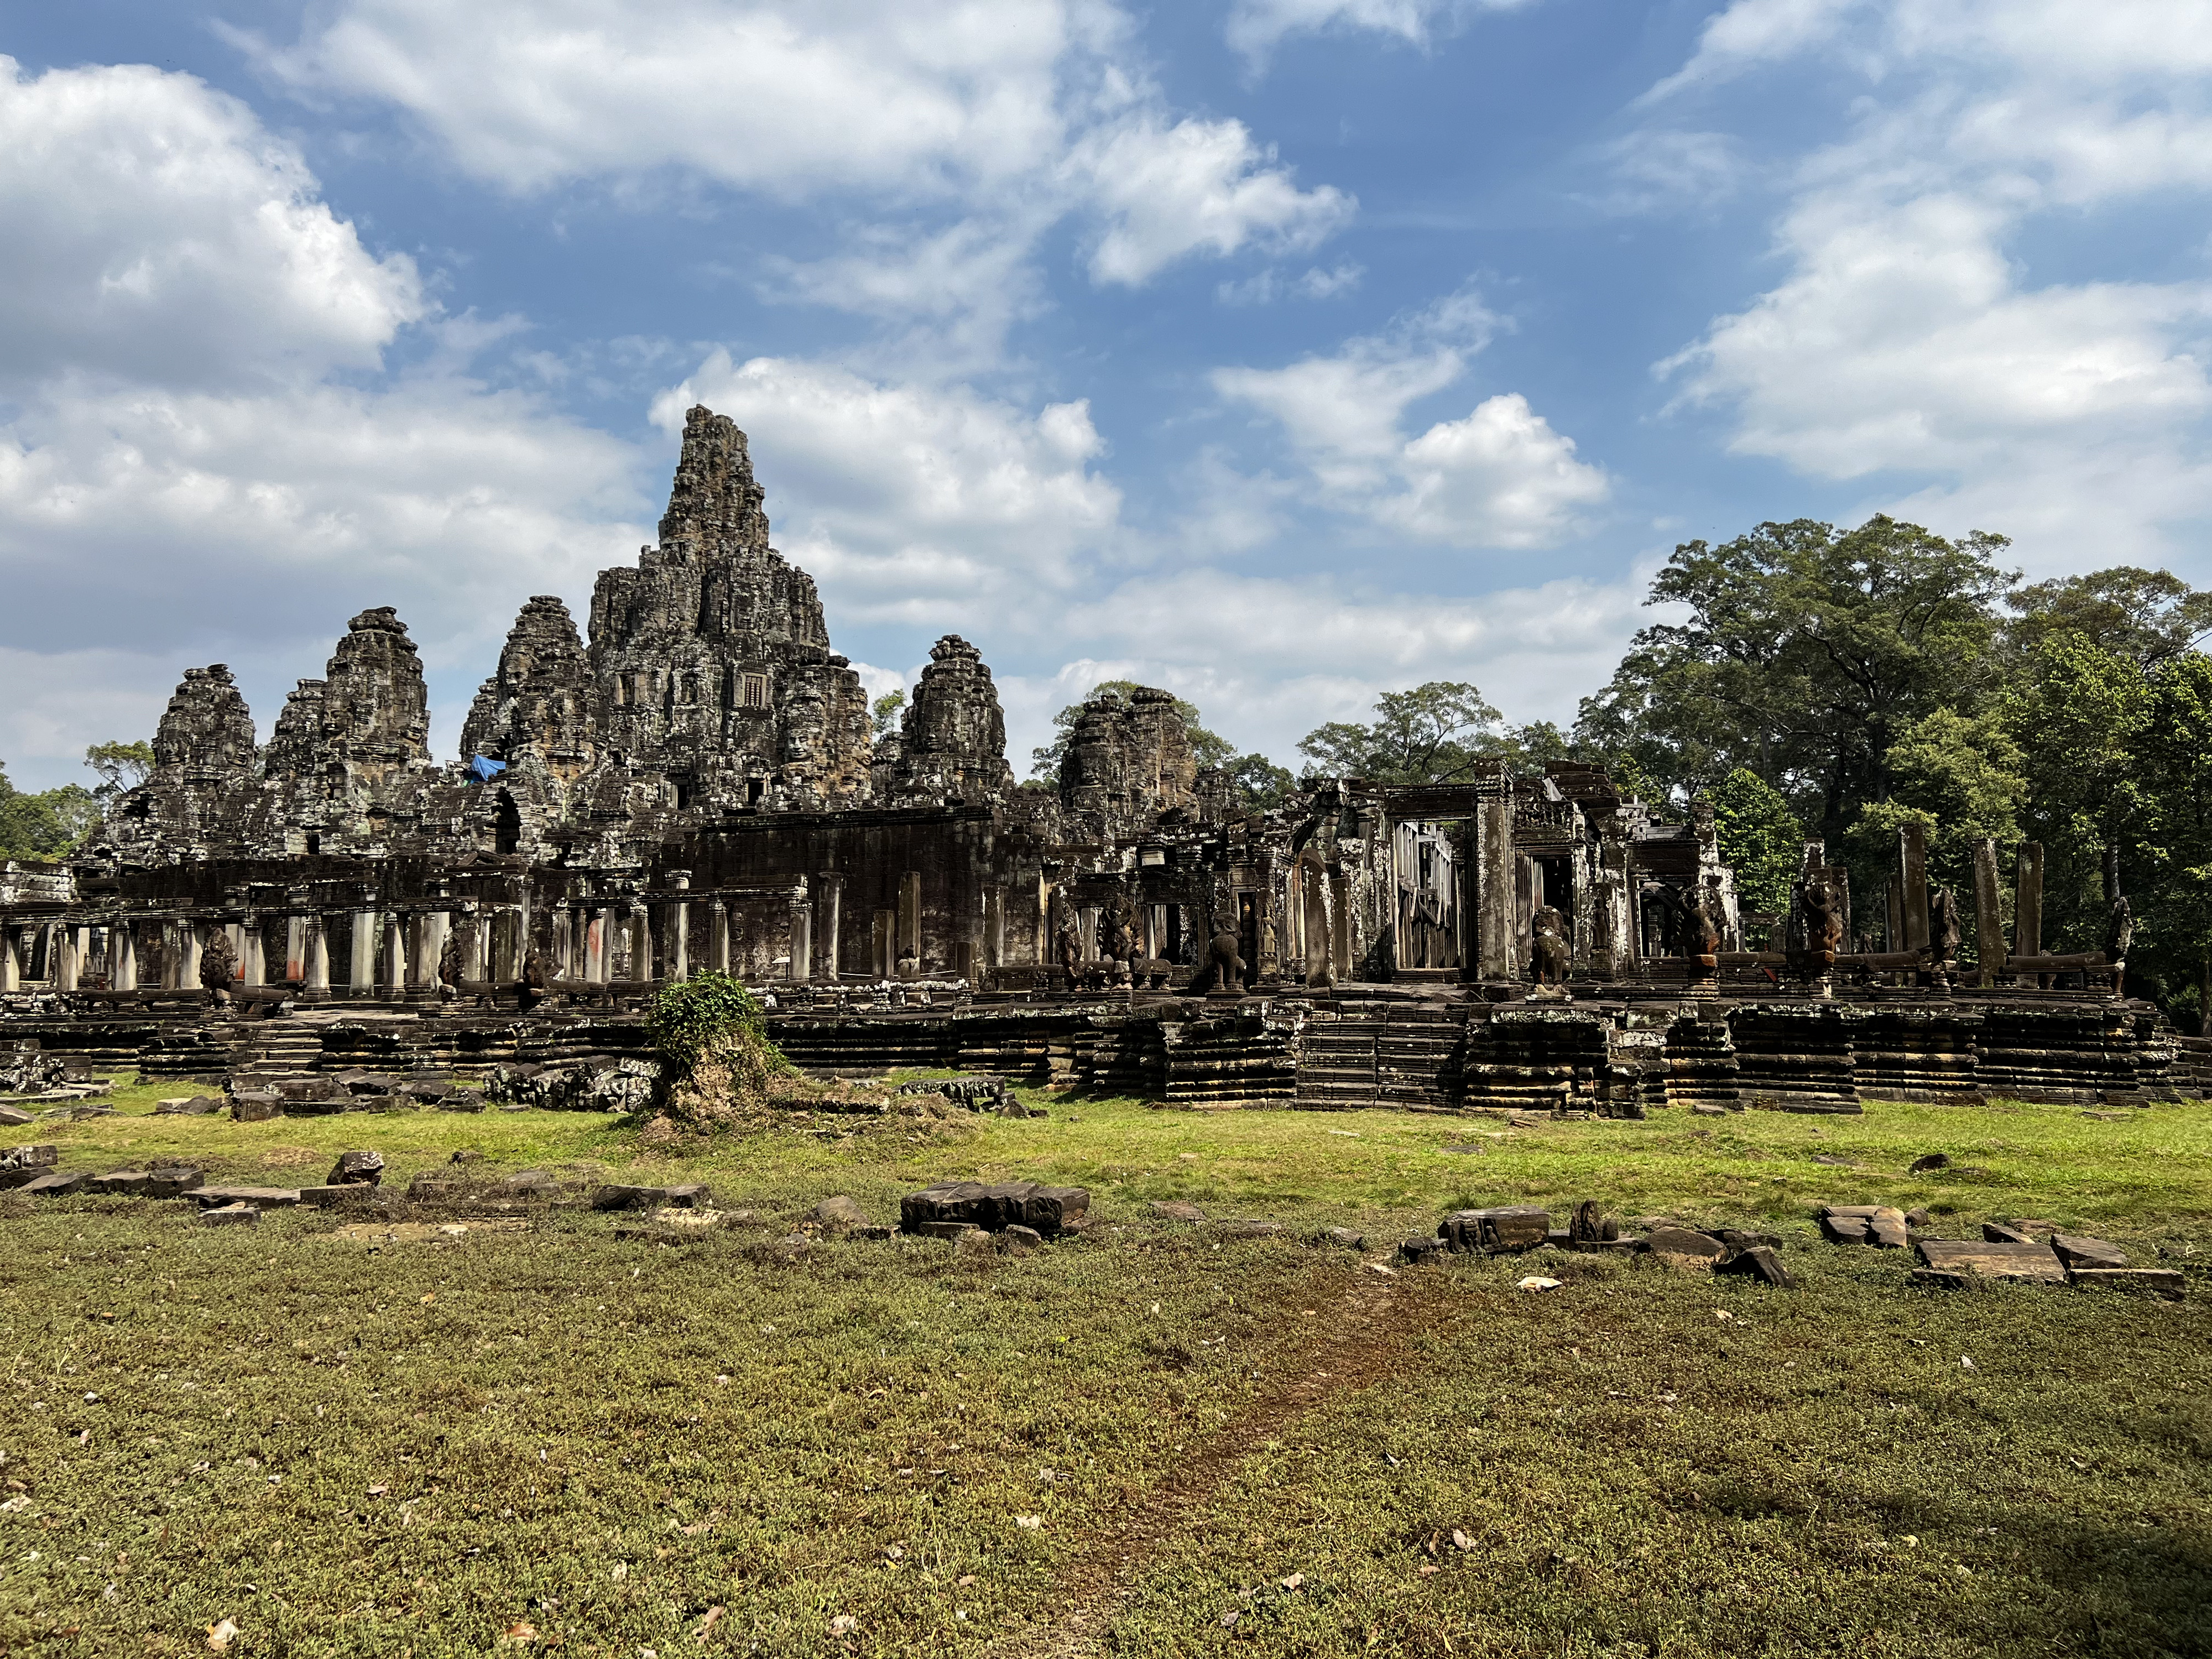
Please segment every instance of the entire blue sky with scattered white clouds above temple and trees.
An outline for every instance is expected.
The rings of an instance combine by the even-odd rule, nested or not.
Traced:
[[[2201,0],[0,15],[0,761],[396,604],[451,752],[692,400],[883,690],[1573,717],[1765,518],[2212,582]]]

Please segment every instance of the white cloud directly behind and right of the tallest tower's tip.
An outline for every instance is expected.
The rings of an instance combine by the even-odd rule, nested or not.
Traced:
[[[1031,416],[967,387],[726,352],[653,418],[679,431],[692,403],[748,429],[776,542],[845,617],[958,626],[978,606],[1064,595],[1119,529],[1086,403]]]

